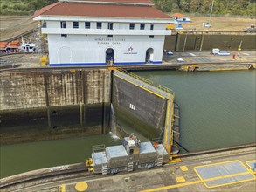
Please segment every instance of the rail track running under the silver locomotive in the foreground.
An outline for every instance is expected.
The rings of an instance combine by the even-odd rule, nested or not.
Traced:
[[[235,147],[223,147],[205,151],[198,151],[192,152],[187,154],[178,154],[177,156],[173,157],[173,160],[177,158],[181,158],[183,161],[202,161],[207,159],[212,159],[220,156],[233,156],[233,155],[244,155],[244,154],[254,154],[256,150],[256,143],[247,144],[247,145],[240,145]],[[205,156],[206,155],[206,156]],[[190,159],[192,158],[192,159]],[[169,163],[170,165],[173,164],[172,162]],[[169,165],[165,165],[169,166]],[[63,166],[65,167],[65,166]],[[67,166],[68,167],[68,166]],[[66,167],[66,168],[67,168]],[[31,187],[33,185],[45,185],[51,182],[64,182],[66,180],[70,181],[73,179],[96,179],[96,178],[103,178],[110,175],[98,175],[89,173],[88,169],[84,165],[84,163],[70,165],[69,169],[59,170],[58,168],[44,168],[36,171],[31,171],[28,173],[20,174],[20,175],[13,175],[10,177],[6,177],[0,180],[0,190],[1,191],[20,191],[21,189],[25,189]],[[161,167],[156,167],[161,168]],[[154,169],[156,169],[154,168]],[[56,169],[56,170],[55,170]],[[53,170],[53,171],[49,171]],[[55,170],[55,171],[54,171]],[[148,169],[137,169],[136,172],[146,171]],[[127,172],[121,172],[119,174],[126,174]]]

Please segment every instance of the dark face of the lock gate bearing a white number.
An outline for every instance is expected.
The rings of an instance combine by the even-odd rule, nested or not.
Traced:
[[[149,139],[163,133],[166,99],[114,75],[112,103],[118,120]]]

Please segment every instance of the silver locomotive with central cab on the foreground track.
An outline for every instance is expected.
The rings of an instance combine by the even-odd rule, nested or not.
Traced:
[[[86,167],[96,174],[116,174],[133,171],[136,168],[153,168],[169,161],[169,154],[163,144],[141,142],[135,134],[121,140],[118,146],[94,146]]]

